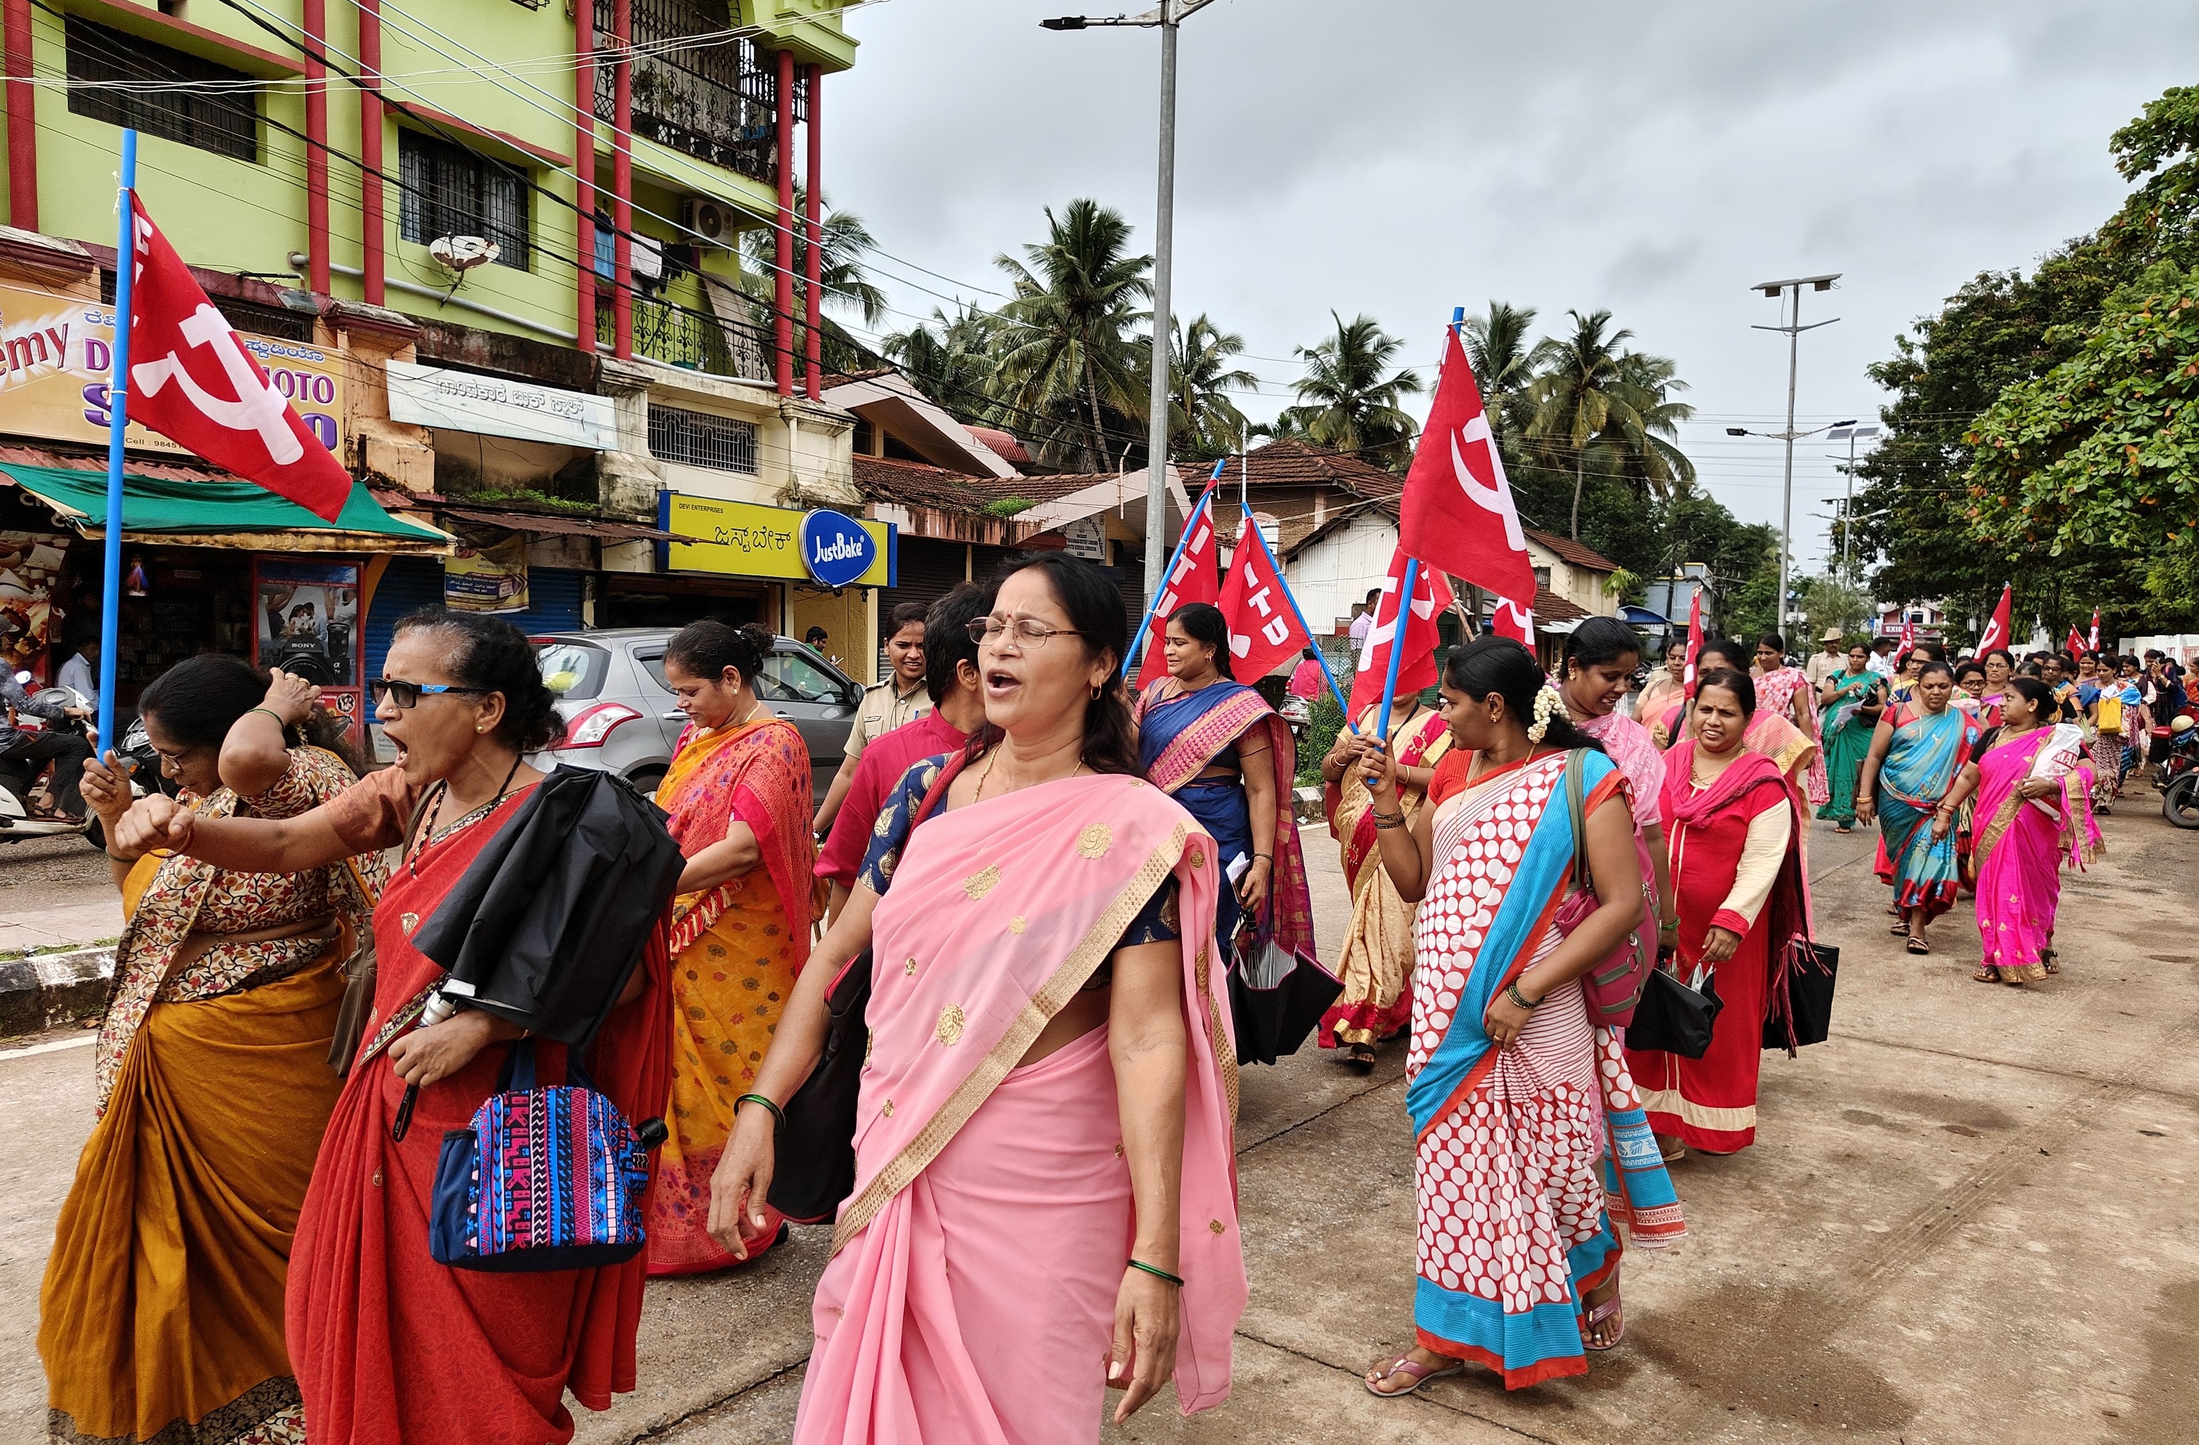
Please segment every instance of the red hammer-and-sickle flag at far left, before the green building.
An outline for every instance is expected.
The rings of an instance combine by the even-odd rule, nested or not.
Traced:
[[[334,521],[352,475],[259,369],[134,194],[130,216],[130,420]]]

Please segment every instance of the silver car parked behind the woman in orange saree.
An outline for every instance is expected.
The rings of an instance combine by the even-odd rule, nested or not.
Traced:
[[[565,741],[528,761],[537,768],[605,768],[653,792],[686,728],[686,713],[664,684],[664,649],[675,631],[614,627],[530,638],[543,682],[559,697]],[[800,730],[809,746],[814,801],[822,803],[840,770],[862,684],[794,638],[776,638],[763,660],[756,697]]]

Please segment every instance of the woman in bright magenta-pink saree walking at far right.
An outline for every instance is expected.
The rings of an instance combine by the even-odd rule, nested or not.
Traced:
[[[1977,792],[1979,983],[2036,983],[2054,972],[2060,869],[2082,869],[2102,849],[2091,818],[2091,765],[2074,726],[2047,721],[2054,695],[2036,677],[2010,677],[2001,726],[1964,765],[1951,803]]]

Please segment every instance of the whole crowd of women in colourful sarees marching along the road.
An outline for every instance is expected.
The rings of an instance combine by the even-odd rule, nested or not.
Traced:
[[[1319,759],[1322,970],[1291,728],[1218,611],[1161,622],[1132,695],[1119,594],[1067,554],[895,616],[825,834],[754,627],[668,644],[662,812],[530,763],[561,721],[495,618],[398,625],[376,772],[297,677],[156,680],[176,796],[84,776],[128,924],[42,1291],[51,1436],[563,1441],[567,1394],[636,1388],[649,1278],[789,1223],[831,1229],[796,1441],[1091,1441],[1170,1379],[1203,1410],[1247,1298],[1238,1069],[1313,1029],[1355,1069],[1405,1038],[1414,1328],[1366,1388],[1579,1375],[1623,1254],[1684,1234],[1667,1166],[1755,1139],[1810,818],[1880,825],[1911,952],[1973,886],[1979,979],[2030,983],[2124,739],[2188,710],[2151,660],[1885,675],[1768,636],[1634,693],[1616,620],[1555,677],[1478,638]],[[1629,1043],[1651,959],[1722,996],[1704,1047]]]

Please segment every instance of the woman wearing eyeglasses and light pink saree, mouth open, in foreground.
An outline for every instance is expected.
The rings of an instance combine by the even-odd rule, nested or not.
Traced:
[[[798,1445],[1097,1441],[1108,1386],[1117,1421],[1170,1377],[1185,1414],[1229,1394],[1245,1260],[1214,840],[1137,776],[1128,627],[1095,567],[1040,554],[972,631],[987,726],[880,812],[712,1179],[712,1232],[752,1247],[774,1115],[869,946],[855,1188]]]

